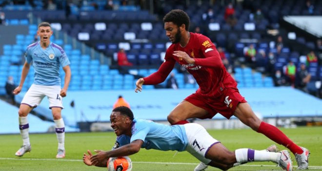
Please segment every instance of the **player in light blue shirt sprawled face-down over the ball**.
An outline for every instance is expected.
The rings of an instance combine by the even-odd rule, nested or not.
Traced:
[[[116,107],[110,115],[111,127],[118,136],[113,150],[92,155],[84,153],[83,162],[88,166],[106,167],[110,157],[132,155],[146,150],[188,151],[198,160],[210,166],[228,170],[232,167],[256,161],[272,161],[282,169],[292,171],[292,161],[287,150],[269,152],[266,150],[238,149],[230,151],[214,139],[199,124],[168,126],[152,121],[136,119],[128,107]],[[272,146],[271,150],[277,150]]]

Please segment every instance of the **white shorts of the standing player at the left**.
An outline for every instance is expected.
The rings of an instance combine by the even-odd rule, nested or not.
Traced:
[[[62,97],[60,96],[60,86],[58,85],[31,85],[27,93],[24,95],[21,104],[37,107],[42,99],[47,96],[49,108],[62,107]]]

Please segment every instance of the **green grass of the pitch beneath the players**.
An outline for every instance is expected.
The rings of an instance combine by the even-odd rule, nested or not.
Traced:
[[[322,171],[322,127],[301,127],[281,129],[290,139],[300,146],[310,150],[310,168],[314,171]],[[274,144],[264,135],[251,129],[233,130],[208,130],[217,140],[229,150],[250,148],[256,150],[266,149]],[[88,167],[80,161],[87,150],[110,150],[115,143],[116,135],[113,132],[91,133],[66,133],[65,149],[66,157],[56,159],[57,138],[56,134],[30,134],[32,151],[23,157],[16,157],[15,152],[20,148],[22,139],[20,135],[0,135],[0,171],[103,171],[106,168]],[[280,150],[285,148],[279,145]],[[199,161],[188,152],[158,151],[141,149],[139,153],[130,156],[133,161],[133,171],[193,171]],[[10,159],[3,159],[10,158]],[[294,155],[292,154],[292,158]],[[52,159],[52,160],[37,160]],[[76,160],[76,161],[66,161]],[[138,163],[138,162],[164,162]],[[189,164],[166,164],[166,163],[189,163]],[[296,161],[293,163],[297,166]],[[251,166],[253,165],[253,166]],[[254,166],[259,165],[259,166]],[[270,165],[270,166],[267,166]],[[232,171],[271,171],[280,170],[271,162],[254,162],[247,166],[232,168]],[[209,168],[207,171],[218,171]]]

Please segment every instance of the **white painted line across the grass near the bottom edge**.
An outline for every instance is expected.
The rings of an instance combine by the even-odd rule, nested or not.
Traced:
[[[82,162],[82,160],[72,160],[72,159],[39,159],[39,158],[0,158],[0,160],[47,160],[47,161],[71,161],[71,162]],[[132,163],[142,163],[142,164],[166,164],[166,165],[199,165],[199,163],[170,163],[170,162],[132,162]],[[275,165],[240,165],[240,166],[267,166],[272,167]],[[297,167],[297,166],[294,166]],[[309,166],[311,169],[322,169],[322,166]]]

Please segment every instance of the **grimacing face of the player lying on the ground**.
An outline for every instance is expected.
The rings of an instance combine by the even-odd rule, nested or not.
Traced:
[[[114,133],[117,136],[125,134],[127,132],[126,120],[128,117],[121,115],[121,112],[112,112],[110,116],[111,127],[114,129]],[[131,128],[130,128],[131,129]]]

